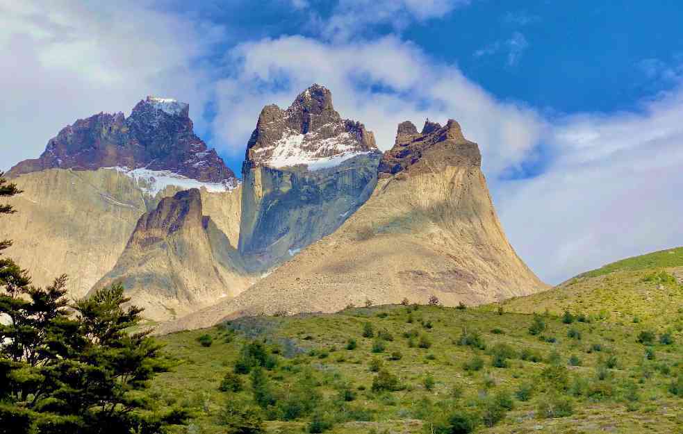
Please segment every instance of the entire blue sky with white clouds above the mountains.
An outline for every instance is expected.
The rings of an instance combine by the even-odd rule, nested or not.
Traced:
[[[147,94],[239,171],[258,112],[320,83],[393,143],[452,117],[513,247],[550,283],[683,244],[676,1],[0,0],[0,169]]]

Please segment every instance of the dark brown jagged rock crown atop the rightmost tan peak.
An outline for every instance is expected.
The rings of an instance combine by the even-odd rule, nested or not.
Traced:
[[[388,178],[399,172],[420,174],[447,166],[481,164],[479,146],[463,136],[460,124],[449,119],[441,126],[427,119],[421,133],[412,122],[399,124],[394,147],[384,153],[377,171],[380,178]]]

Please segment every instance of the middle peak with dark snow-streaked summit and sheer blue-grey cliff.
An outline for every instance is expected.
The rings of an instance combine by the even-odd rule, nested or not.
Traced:
[[[329,235],[370,197],[381,153],[313,85],[286,110],[266,106],[242,165],[239,251],[265,271]]]

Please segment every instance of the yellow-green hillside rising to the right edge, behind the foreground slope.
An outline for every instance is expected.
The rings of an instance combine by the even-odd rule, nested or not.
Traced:
[[[504,301],[506,310],[585,312],[616,322],[683,327],[683,248],[627,258],[540,294]]]

